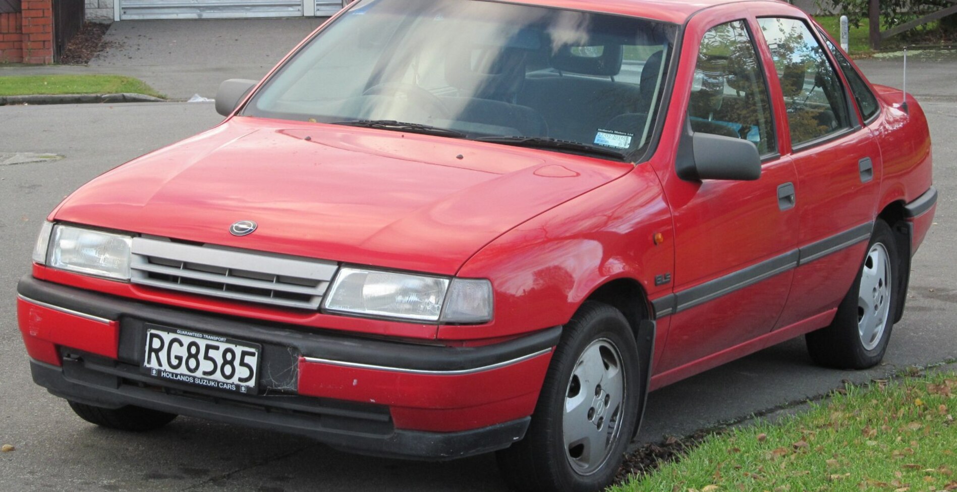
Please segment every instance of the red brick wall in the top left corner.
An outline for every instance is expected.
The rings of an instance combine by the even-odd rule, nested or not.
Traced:
[[[53,63],[52,0],[23,0],[22,11],[0,13],[0,62]]]

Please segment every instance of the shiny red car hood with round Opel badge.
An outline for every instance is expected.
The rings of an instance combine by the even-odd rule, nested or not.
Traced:
[[[453,275],[497,236],[631,169],[505,145],[234,118],[102,174],[51,217]],[[231,235],[240,220],[258,229]]]

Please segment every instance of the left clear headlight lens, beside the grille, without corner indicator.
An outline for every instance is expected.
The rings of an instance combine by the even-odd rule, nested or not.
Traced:
[[[101,233],[58,225],[54,227],[49,265],[81,274],[129,280],[129,235]]]

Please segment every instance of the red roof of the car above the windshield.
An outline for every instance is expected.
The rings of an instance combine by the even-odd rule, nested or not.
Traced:
[[[684,24],[695,12],[725,4],[742,4],[739,8],[748,9],[746,4],[774,3],[780,7],[799,9],[781,0],[505,0],[509,3],[539,5],[572,11],[597,11],[633,15],[646,19],[661,20],[673,24]]]

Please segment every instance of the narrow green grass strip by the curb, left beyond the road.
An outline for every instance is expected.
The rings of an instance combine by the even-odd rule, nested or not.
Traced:
[[[143,80],[107,75],[50,75],[0,77],[0,96],[36,94],[116,94],[121,92],[163,97]]]

